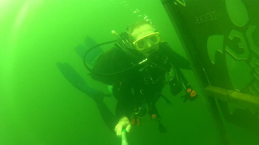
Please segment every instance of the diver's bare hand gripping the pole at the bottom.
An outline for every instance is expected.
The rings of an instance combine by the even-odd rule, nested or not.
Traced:
[[[126,128],[126,131],[129,132],[131,129],[131,123],[127,117],[123,117],[119,120],[118,124],[115,126],[115,132],[118,137],[121,137],[122,129]]]

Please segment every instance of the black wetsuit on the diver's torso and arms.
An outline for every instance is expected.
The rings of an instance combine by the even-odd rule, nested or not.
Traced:
[[[119,48],[111,48],[102,54],[93,68],[98,73],[117,73],[145,58],[132,58]],[[167,42],[159,43],[159,50],[148,61],[118,75],[100,76],[91,73],[94,80],[113,85],[113,95],[118,100],[115,119],[131,117],[142,102],[155,103],[165,86],[165,74],[172,67],[190,69],[188,60],[177,54]]]

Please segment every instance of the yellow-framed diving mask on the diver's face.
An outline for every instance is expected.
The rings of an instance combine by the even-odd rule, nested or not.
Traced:
[[[134,41],[133,44],[136,50],[143,51],[146,49],[147,41],[149,41],[153,45],[158,44],[161,41],[160,34],[158,32],[148,34]]]

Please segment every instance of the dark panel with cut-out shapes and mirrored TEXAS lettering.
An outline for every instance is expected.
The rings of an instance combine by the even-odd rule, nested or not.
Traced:
[[[259,134],[259,1],[161,2],[222,144],[228,144],[224,121]]]

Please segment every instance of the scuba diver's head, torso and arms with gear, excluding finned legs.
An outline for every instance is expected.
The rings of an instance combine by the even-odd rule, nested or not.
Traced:
[[[196,99],[195,91],[180,70],[190,70],[190,64],[161,40],[149,22],[138,21],[126,30],[120,35],[112,31],[117,36],[115,47],[100,55],[92,70],[84,62],[92,79],[107,84],[118,101],[115,117],[106,124],[115,124],[114,130],[120,137],[124,128],[129,132],[132,125],[140,125],[141,117],[148,113],[159,123],[160,132],[166,132],[155,103],[162,97],[172,105],[161,94],[166,84],[170,85],[173,95],[184,89],[184,101]],[[166,74],[172,75],[169,81],[165,79]]]

